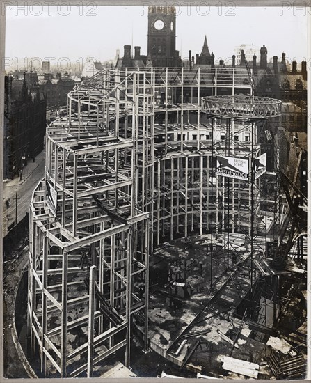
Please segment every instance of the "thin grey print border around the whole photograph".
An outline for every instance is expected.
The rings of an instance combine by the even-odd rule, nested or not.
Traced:
[[[307,57],[307,67],[308,67],[308,148],[311,148],[311,135],[309,134],[310,132],[310,129],[311,129],[311,118],[310,118],[310,111],[311,111],[311,101],[310,101],[310,91],[311,91],[311,72],[310,72],[310,66],[311,66],[311,49],[310,49],[310,36],[311,36],[311,27],[310,27],[310,19],[311,19],[311,16],[310,16],[310,13],[311,13],[311,2],[310,1],[275,1],[275,0],[267,0],[267,1],[260,1],[260,3],[258,3],[257,1],[250,1],[250,0],[234,0],[234,1],[223,1],[223,4],[225,6],[225,3],[234,3],[234,6],[247,6],[247,7],[257,7],[257,6],[260,6],[260,7],[263,7],[263,6],[266,6],[266,7],[270,7],[270,6],[274,6],[274,7],[289,7],[289,8],[293,8],[293,7],[297,7],[297,9],[299,7],[305,7],[308,12],[308,31],[306,31],[306,33],[308,34],[308,57]],[[17,5],[20,5],[20,6],[28,6],[28,5],[33,5],[35,3],[40,3],[40,1],[31,1],[31,0],[23,0],[23,1],[1,1],[1,34],[0,34],[0,55],[1,55],[1,77],[0,77],[0,89],[1,89],[1,94],[3,95],[3,90],[4,90],[4,63],[3,63],[3,58],[5,57],[5,36],[6,36],[6,15],[5,13],[3,12],[3,4],[6,4],[7,6],[10,6],[10,4],[13,4],[14,6],[17,6]],[[58,0],[49,0],[49,1],[43,1],[43,3],[49,3],[51,4],[51,6],[57,6],[58,4],[65,4],[67,3],[68,5],[70,6],[77,6],[77,5],[87,5],[87,4],[90,4],[90,3],[93,3],[95,6],[147,6],[147,5],[153,5],[155,3],[155,5],[167,5],[167,6],[183,6],[183,5],[189,5],[189,6],[196,6],[196,5],[200,5],[200,3],[203,3],[202,1],[169,1],[169,0],[166,0],[166,1],[134,1],[134,0],[131,0],[131,1],[105,1],[105,0],[102,0],[102,1],[98,1],[98,0],[95,0],[95,1],[88,1],[88,0],[79,0],[79,1],[70,1],[70,0],[65,0],[65,1],[58,1]],[[219,1],[205,1],[204,3],[208,3],[209,6],[217,6],[219,4]],[[3,137],[3,116],[4,116],[4,98],[3,97],[0,97],[0,132],[1,132],[1,137]],[[1,161],[0,161],[0,182],[1,182],[1,191],[0,191],[0,200],[2,201],[2,187],[3,187],[3,139],[0,139],[0,158],[1,158]],[[311,196],[311,186],[310,186],[310,180],[311,180],[311,156],[308,155],[308,195],[309,195],[309,198]],[[3,224],[3,212],[2,212],[2,209],[1,209],[1,212],[0,212],[0,220],[1,220],[1,232],[2,232],[2,224]],[[311,352],[310,352],[310,349],[311,349],[311,337],[310,337],[310,334],[311,334],[311,320],[310,320],[310,313],[311,313],[311,302],[310,302],[310,293],[311,293],[311,262],[310,262],[310,251],[311,251],[311,247],[310,247],[310,236],[311,236],[311,226],[310,226],[310,223],[311,223],[311,211],[310,211],[310,206],[309,206],[309,203],[308,203],[308,281],[307,281],[307,284],[308,284],[308,375],[307,375],[307,379],[310,380],[311,379]],[[1,253],[1,258],[0,258],[0,280],[1,280],[1,287],[2,287],[2,283],[3,283],[3,249],[2,249],[2,241],[1,241],[1,244],[0,244],[0,253]],[[2,308],[3,307],[3,295],[2,295],[2,288],[1,288],[1,295],[0,295],[0,307]],[[0,329],[3,329],[3,316],[0,315]],[[3,334],[3,331],[2,331],[2,334]],[[3,377],[3,336],[1,336],[1,341],[0,341],[0,345],[1,345],[1,359],[0,359],[0,381],[3,382],[4,381],[4,377]],[[83,378],[81,378],[83,379]],[[85,379],[85,378],[84,378]],[[83,380],[84,380],[83,379]],[[121,381],[122,382],[134,382],[133,380],[134,378],[130,378],[130,379],[122,379]],[[157,379],[157,378],[137,378],[139,379],[139,382],[161,382],[161,380]],[[62,379],[61,378],[57,378],[57,379],[38,379],[38,382],[46,382],[46,381],[55,381],[55,382],[61,382]],[[69,382],[71,379],[70,378],[66,378],[64,380],[64,382]],[[8,379],[8,382],[19,382],[19,379]],[[28,379],[24,380],[25,382],[28,382]],[[29,381],[33,381],[33,379],[29,380]],[[76,382],[77,380],[75,379],[74,382]],[[99,378],[89,378],[88,381],[90,382],[99,382],[101,381]],[[179,379],[176,379],[175,382],[179,382],[180,380]],[[187,382],[187,379],[183,379],[182,380],[183,382]],[[192,379],[188,379],[188,381],[192,381]],[[221,380],[220,380],[221,381]],[[224,380],[225,381],[225,380]],[[227,380],[226,380],[227,381]],[[237,382],[247,382],[248,380],[236,380]],[[280,382],[280,380],[278,380]],[[299,381],[299,380],[297,380]],[[104,379],[104,382],[115,382],[115,378],[106,378]]]

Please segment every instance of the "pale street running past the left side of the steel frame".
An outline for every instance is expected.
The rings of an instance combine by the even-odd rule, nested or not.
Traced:
[[[8,227],[18,224],[27,212],[33,189],[45,176],[45,149],[35,157],[35,162],[29,159],[24,166],[22,180],[18,177],[3,181],[3,231],[2,237],[8,234]],[[9,205],[6,201],[9,200]],[[17,222],[15,222],[17,221]]]

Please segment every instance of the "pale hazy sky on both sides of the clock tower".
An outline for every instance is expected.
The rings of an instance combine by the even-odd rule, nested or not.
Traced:
[[[176,49],[182,58],[188,57],[189,49],[196,56],[206,34],[216,62],[231,57],[241,44],[264,44],[268,58],[280,58],[286,52],[289,61],[301,62],[307,57],[307,15],[303,13],[278,7],[177,7]],[[147,54],[147,8],[33,6],[7,11],[6,63],[33,56],[55,57],[52,63],[62,57],[85,61],[87,56],[104,61],[115,57],[117,48],[123,56],[123,45],[132,43]]]

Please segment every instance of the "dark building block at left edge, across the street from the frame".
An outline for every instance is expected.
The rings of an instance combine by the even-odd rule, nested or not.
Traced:
[[[3,178],[13,178],[44,147],[47,102],[39,88],[5,77]]]

